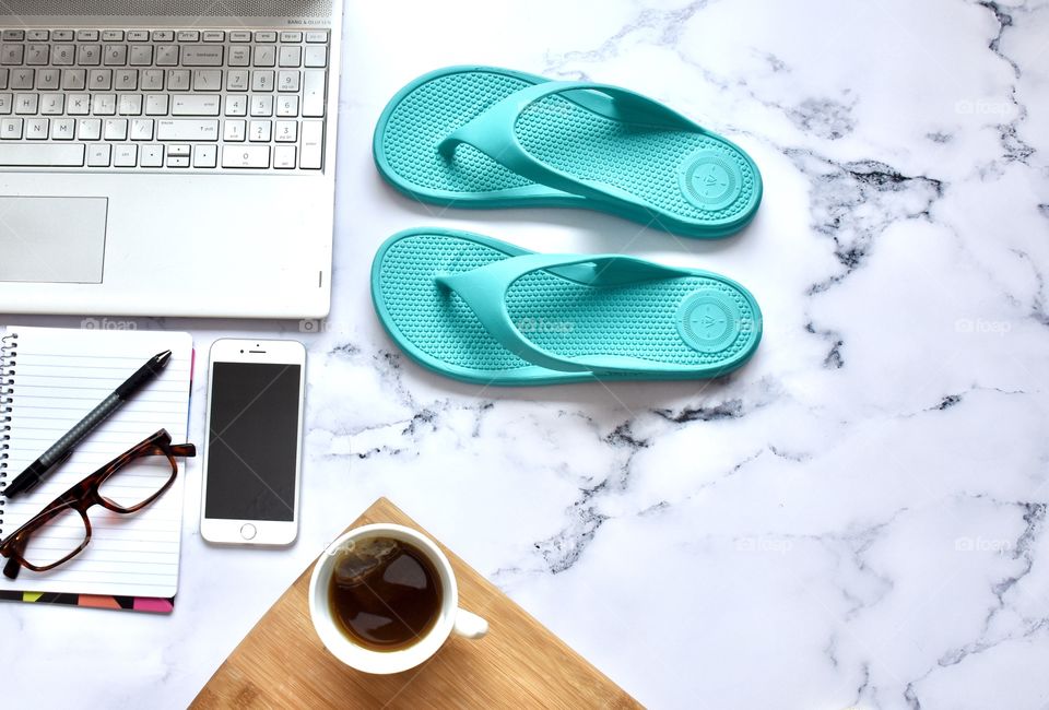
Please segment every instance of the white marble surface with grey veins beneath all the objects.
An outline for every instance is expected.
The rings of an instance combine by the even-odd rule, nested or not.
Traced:
[[[386,495],[652,707],[1046,707],[1049,4],[350,0],[345,24],[323,332],[140,322],[191,330],[200,354],[307,342],[299,541],[207,546],[195,462],[175,613],[0,606],[4,706],[185,706]],[[756,221],[702,242],[394,194],[369,152],[384,103],[472,62],[694,116],[759,165]],[[764,342],[708,383],[438,378],[392,348],[367,291],[376,246],[427,223],[726,273]],[[198,377],[198,442],[203,404]]]

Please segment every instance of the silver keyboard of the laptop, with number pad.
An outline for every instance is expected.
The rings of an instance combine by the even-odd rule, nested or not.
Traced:
[[[329,38],[3,29],[0,167],[320,170]]]

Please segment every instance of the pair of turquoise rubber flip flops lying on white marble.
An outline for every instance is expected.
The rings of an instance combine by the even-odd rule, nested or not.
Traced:
[[[692,237],[742,228],[762,194],[741,149],[652,99],[490,67],[402,88],[374,149],[382,176],[423,201],[588,208]],[[411,357],[484,384],[715,377],[762,333],[751,294],[717,274],[439,228],[390,237],[372,296]]]

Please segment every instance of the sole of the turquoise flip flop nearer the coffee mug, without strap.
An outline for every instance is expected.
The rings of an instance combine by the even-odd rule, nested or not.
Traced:
[[[372,267],[372,297],[384,328],[413,359],[441,375],[493,386],[601,380],[702,379],[750,358],[761,310],[723,276],[695,275],[596,288],[549,271],[526,274],[506,294],[510,318],[540,347],[568,357],[623,355],[679,366],[673,372],[561,372],[505,350],[462,299],[438,289],[459,273],[529,253],[496,239],[420,228],[390,237]]]

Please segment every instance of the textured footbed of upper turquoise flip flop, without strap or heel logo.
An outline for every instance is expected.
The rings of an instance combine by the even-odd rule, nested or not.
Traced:
[[[524,79],[483,70],[443,74],[410,91],[393,107],[381,137],[389,169],[409,190],[470,193],[532,185],[470,145],[445,159],[437,145],[455,129],[506,96],[532,85]],[[570,175],[614,185],[652,210],[696,223],[721,223],[753,211],[757,179],[750,161],[711,134],[652,130],[599,116],[559,95],[530,106],[515,127],[532,156]],[[698,151],[731,163],[739,194],[705,210],[686,199],[680,171]]]

